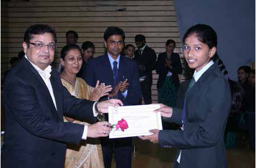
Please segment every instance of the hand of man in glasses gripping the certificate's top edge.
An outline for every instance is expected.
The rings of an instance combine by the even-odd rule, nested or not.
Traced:
[[[109,112],[109,106],[111,107],[118,107],[118,106],[124,106],[124,104],[119,99],[111,98],[109,100],[101,101],[97,104],[97,108],[99,112],[102,113],[108,113]]]

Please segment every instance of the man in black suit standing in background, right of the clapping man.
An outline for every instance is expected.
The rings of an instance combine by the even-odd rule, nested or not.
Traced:
[[[146,38],[142,34],[135,36],[135,43],[138,49],[134,52],[134,61],[139,65],[139,76],[145,76],[145,80],[141,82],[141,91],[145,105],[152,103],[151,86],[152,71],[156,66],[156,53],[152,48],[147,47]]]

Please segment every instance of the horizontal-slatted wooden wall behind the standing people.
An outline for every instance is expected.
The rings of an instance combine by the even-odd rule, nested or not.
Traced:
[[[2,7],[2,4],[1,4]],[[179,28],[174,1],[88,1],[88,0],[30,0],[29,2],[5,2],[5,15],[1,9],[1,78],[8,70],[9,58],[22,51],[23,35],[32,24],[49,24],[57,33],[57,50],[53,67],[57,68],[60,51],[66,45],[65,33],[69,30],[78,33],[78,43],[92,41],[95,43],[95,57],[106,52],[103,34],[107,27],[117,26],[126,33],[125,43],[135,45],[134,36],[144,34],[147,45],[157,55],[165,51],[165,42],[174,39],[175,52],[181,54]],[[3,24],[4,23],[4,24]],[[5,28],[4,28],[5,25]],[[158,75],[154,72],[152,97],[157,102],[156,82]],[[186,73],[182,76],[186,80]]]

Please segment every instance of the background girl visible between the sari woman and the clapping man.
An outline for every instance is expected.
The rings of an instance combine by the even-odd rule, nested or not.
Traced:
[[[93,58],[94,55],[94,45],[90,41],[86,41],[82,43],[82,67],[80,71],[77,73],[77,77],[81,77],[83,80],[85,80],[85,75],[86,75],[86,66],[88,63],[88,60]]]

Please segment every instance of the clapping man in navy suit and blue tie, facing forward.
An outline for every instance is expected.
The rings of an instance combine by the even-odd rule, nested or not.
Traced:
[[[114,90],[109,96],[101,98],[119,98],[124,105],[135,105],[141,99],[139,72],[130,58],[120,55],[124,47],[125,33],[118,27],[109,27],[104,33],[107,54],[93,58],[88,62],[86,82],[95,86],[96,81],[111,85]],[[100,101],[101,101],[100,100]],[[101,139],[105,168],[111,167],[112,153],[115,154],[116,167],[131,167],[132,138]]]

